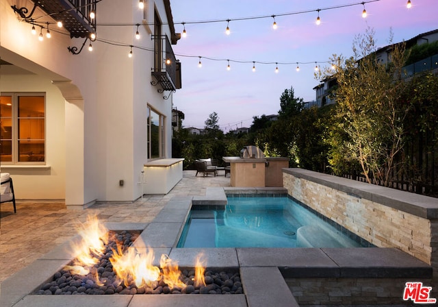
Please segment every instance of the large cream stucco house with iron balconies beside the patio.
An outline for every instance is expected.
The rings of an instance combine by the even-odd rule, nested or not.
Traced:
[[[68,208],[162,193],[154,184],[167,164],[177,164],[167,186],[182,178],[171,148],[181,75],[170,1],[142,1],[144,9],[138,0],[73,3],[0,3],[1,171],[14,178],[18,199],[65,199]],[[96,27],[91,10],[105,26]]]

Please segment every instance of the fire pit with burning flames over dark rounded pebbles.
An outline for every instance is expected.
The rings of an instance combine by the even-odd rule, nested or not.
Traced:
[[[138,238],[140,232],[110,232],[96,219],[79,233],[79,251],[69,265],[34,292],[38,295],[134,295],[134,294],[242,294],[237,271],[205,269],[203,254],[196,267],[180,270],[177,262],[163,254],[160,267],[152,265],[153,249]],[[139,250],[145,249],[145,253]]]

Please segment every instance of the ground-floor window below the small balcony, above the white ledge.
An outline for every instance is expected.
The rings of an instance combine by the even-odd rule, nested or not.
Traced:
[[[148,159],[164,157],[164,116],[148,106]]]

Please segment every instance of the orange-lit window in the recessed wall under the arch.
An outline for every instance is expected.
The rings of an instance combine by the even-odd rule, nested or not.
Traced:
[[[1,94],[1,162],[45,162],[45,100],[44,94]]]

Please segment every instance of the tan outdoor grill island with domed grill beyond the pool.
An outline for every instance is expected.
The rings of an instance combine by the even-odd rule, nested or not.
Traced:
[[[281,169],[289,167],[289,158],[266,158],[256,146],[245,146],[240,157],[223,157],[231,166],[231,186],[283,186]]]

